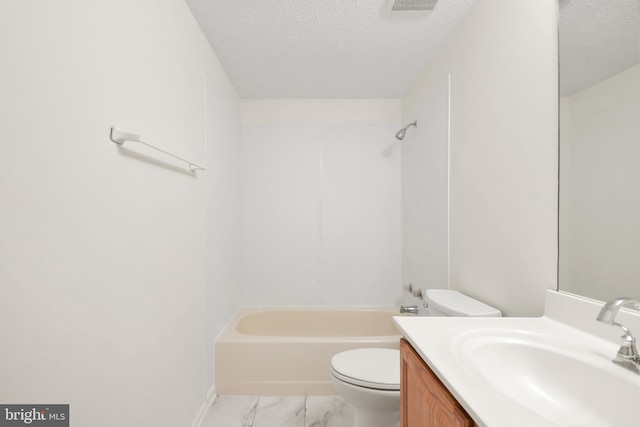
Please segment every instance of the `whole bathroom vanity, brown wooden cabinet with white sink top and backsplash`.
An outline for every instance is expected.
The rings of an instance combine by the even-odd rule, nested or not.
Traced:
[[[640,374],[613,359],[603,304],[547,291],[538,318],[395,317],[401,426],[637,427]],[[640,313],[616,323],[640,334]]]

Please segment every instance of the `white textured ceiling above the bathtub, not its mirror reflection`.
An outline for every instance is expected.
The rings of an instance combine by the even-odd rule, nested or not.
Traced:
[[[186,0],[242,98],[400,98],[475,0]]]

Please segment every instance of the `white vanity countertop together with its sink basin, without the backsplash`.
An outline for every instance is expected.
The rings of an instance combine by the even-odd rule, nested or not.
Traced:
[[[640,427],[615,342],[545,317],[394,320],[481,427]]]

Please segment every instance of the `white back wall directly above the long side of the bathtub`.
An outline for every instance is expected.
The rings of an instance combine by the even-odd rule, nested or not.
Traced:
[[[399,100],[242,102],[244,305],[394,305]]]

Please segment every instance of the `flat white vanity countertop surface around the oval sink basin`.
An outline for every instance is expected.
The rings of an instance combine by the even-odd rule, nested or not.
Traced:
[[[595,357],[597,363],[601,359],[603,366],[611,362],[611,358],[618,348],[611,341],[588,334],[549,317],[397,316],[394,317],[394,321],[405,338],[479,426],[546,427],[560,426],[561,424],[558,423],[557,418],[554,420],[544,411],[532,410],[530,407],[518,403],[517,399],[500,392],[488,382],[486,376],[479,374],[474,366],[469,366],[468,361],[473,360],[474,356],[472,351],[465,350],[469,347],[465,346],[466,342],[470,342],[469,340],[504,335],[505,333],[531,334],[529,336],[539,337],[552,336],[555,342],[561,345],[586,348],[589,357]],[[500,375],[499,373],[503,371],[498,366],[493,372]],[[544,390],[541,390],[541,394],[543,393]],[[558,402],[559,406],[562,404],[563,402]],[[630,421],[636,422],[632,413],[637,411],[637,408],[629,409]],[[573,420],[573,414],[571,416]],[[571,425],[576,426],[609,425],[608,421],[603,422],[602,419],[594,422],[594,419],[589,418],[589,414],[586,413],[576,413],[573,421],[575,423],[572,422]],[[566,425],[564,424],[563,427]]]

